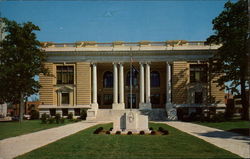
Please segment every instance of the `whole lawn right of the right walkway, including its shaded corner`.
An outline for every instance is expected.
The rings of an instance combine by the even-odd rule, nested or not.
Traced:
[[[225,131],[250,136],[250,122],[244,120],[232,120],[225,122],[195,122],[196,124],[217,128]]]

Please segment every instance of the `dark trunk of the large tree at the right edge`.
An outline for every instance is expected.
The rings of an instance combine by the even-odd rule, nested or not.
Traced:
[[[241,86],[241,103],[242,103],[242,107],[243,107],[243,113],[242,113],[242,119],[244,120],[249,120],[249,106],[248,106],[248,102],[247,102],[247,96],[246,96],[246,81],[245,78],[241,78],[241,82],[240,82],[240,86]]]

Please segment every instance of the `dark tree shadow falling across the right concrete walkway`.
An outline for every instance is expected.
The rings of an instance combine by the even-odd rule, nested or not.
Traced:
[[[243,136],[241,134],[237,134],[233,132],[227,132],[227,131],[212,131],[207,133],[197,133],[201,136],[206,137],[213,137],[213,138],[224,138],[224,139],[236,139],[236,140],[243,140],[245,143],[250,144],[250,136]]]

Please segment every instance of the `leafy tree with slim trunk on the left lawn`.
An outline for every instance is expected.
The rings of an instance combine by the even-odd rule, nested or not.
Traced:
[[[0,101],[20,104],[20,122],[23,119],[24,100],[41,87],[35,75],[48,74],[44,67],[46,54],[34,31],[39,27],[31,22],[18,24],[3,18],[4,32],[0,42]]]

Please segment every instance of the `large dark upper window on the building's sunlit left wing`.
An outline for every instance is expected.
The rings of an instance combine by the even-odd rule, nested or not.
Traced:
[[[57,66],[57,84],[74,84],[74,66]]]

